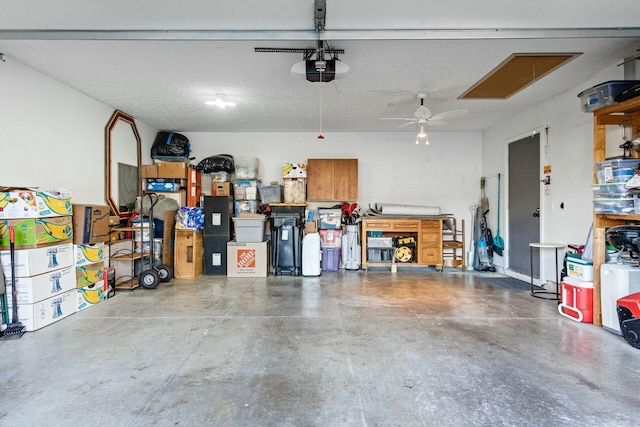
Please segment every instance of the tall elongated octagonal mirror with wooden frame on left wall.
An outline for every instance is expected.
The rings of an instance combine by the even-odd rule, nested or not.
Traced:
[[[107,203],[115,215],[130,216],[140,195],[140,134],[133,117],[114,111],[105,128]]]

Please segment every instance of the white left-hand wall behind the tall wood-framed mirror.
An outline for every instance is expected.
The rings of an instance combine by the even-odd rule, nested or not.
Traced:
[[[0,185],[66,188],[74,203],[104,204],[104,129],[114,108],[5,59],[0,62]],[[150,146],[156,130],[136,125]]]

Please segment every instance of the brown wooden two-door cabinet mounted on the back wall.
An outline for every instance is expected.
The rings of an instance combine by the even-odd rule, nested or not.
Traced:
[[[358,200],[358,159],[307,159],[307,200]]]

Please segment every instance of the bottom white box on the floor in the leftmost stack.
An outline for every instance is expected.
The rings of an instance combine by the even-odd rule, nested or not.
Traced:
[[[74,314],[77,300],[76,290],[72,289],[34,304],[18,304],[18,319],[27,331],[35,331]]]

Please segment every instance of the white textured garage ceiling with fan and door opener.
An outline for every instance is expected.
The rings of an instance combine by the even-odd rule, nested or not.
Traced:
[[[327,0],[316,33],[311,0],[12,2],[0,52],[159,129],[384,132],[401,122],[378,118],[411,117],[418,92],[434,114],[469,110],[439,130],[482,130],[640,48],[636,0],[431,3]],[[301,54],[254,52],[318,36],[350,67],[330,83],[291,75]],[[513,53],[553,52],[582,55],[507,100],[457,99]],[[206,106],[218,93],[236,106]]]

